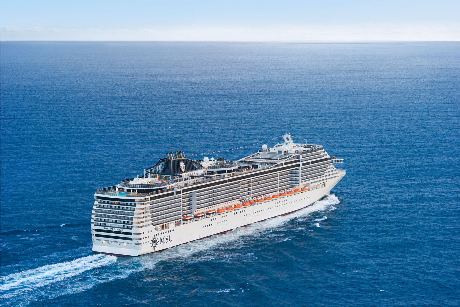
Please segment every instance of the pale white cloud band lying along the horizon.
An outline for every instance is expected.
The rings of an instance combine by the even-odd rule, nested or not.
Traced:
[[[0,37],[3,41],[459,41],[460,23],[186,29],[2,27]]]

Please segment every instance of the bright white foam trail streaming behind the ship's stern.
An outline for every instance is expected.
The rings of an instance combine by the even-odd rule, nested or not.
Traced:
[[[2,276],[0,278],[0,289],[2,290],[0,297],[11,297],[20,292],[55,283],[95,267],[106,266],[115,261],[115,256],[91,255],[73,261],[40,266],[35,269]]]

